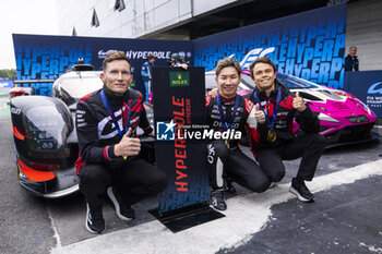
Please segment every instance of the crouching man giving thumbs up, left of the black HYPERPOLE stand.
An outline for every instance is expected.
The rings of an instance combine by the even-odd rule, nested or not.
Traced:
[[[136,128],[154,135],[142,95],[131,88],[130,60],[124,52],[109,53],[103,63],[104,87],[83,98],[76,108],[80,157],[76,169],[80,190],[86,198],[86,229],[105,230],[102,195],[107,192],[117,216],[134,219],[131,205],[157,194],[167,184],[166,174],[139,158]]]

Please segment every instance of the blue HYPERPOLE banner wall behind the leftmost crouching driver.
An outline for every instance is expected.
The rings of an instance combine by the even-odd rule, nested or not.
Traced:
[[[65,69],[83,58],[86,64],[102,70],[102,64],[110,51],[124,51],[131,60],[134,83],[132,86],[144,95],[141,76],[142,64],[147,55],[156,57],[155,65],[167,65],[171,53],[193,60],[192,41],[122,39],[73,36],[43,36],[13,34],[17,80],[49,80],[64,73]],[[49,95],[52,83],[23,84],[34,87],[37,95]]]

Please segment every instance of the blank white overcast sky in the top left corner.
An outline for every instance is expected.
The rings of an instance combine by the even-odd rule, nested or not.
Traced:
[[[15,69],[12,33],[58,35],[56,0],[0,0],[0,69]]]

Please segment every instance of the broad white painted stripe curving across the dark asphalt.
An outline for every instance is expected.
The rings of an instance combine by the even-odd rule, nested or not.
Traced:
[[[312,192],[319,192],[380,174],[382,174],[382,159],[314,178],[307,185]],[[288,192],[288,189],[289,183],[279,184],[265,193],[248,193],[229,198],[228,209],[224,213],[225,218],[178,233],[171,233],[155,220],[67,246],[58,244],[51,253],[215,253],[223,247],[246,243],[251,239],[251,234],[265,227],[272,215],[272,205],[296,197]]]

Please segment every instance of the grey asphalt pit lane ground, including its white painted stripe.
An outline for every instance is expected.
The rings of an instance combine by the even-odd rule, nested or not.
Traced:
[[[0,102],[3,105],[3,101]],[[299,203],[287,192],[290,178],[296,173],[299,162],[299,160],[294,160],[286,162],[287,176],[283,180],[283,184],[275,189],[262,194],[251,194],[247,190],[237,188],[238,195],[228,199],[225,219],[172,234],[146,213],[147,208],[156,206],[156,201],[153,197],[135,206],[139,218],[129,225],[118,220],[110,206],[105,205],[107,232],[103,235],[93,235],[84,228],[85,206],[81,194],[45,201],[32,196],[19,185],[15,176],[13,137],[9,116],[0,118],[0,153],[2,155],[0,161],[0,253],[4,254],[50,252],[215,253],[217,251],[222,253],[296,253],[295,251],[298,250],[303,252],[310,250],[314,253],[338,253],[338,249],[334,247],[349,244],[346,240],[351,239],[351,232],[348,232],[347,229],[347,238],[336,240],[331,238],[331,231],[324,231],[327,235],[326,241],[321,241],[318,239],[319,237],[309,233],[309,230],[315,232],[312,225],[322,223],[318,217],[312,217],[312,215],[327,214],[329,216],[325,218],[331,221],[331,218],[334,218],[332,211],[337,210],[339,214],[351,211],[354,214],[358,210],[357,207],[360,205],[358,203],[366,201],[366,197],[374,198],[370,199],[369,206],[367,206],[370,210],[375,211],[382,208],[372,206],[377,202],[381,204],[381,196],[371,195],[371,191],[382,189],[381,177],[368,178],[372,172],[382,174],[382,165],[380,157],[378,157],[378,154],[382,152],[382,145],[370,143],[334,148],[324,154],[319,164],[317,178],[311,184],[318,197],[313,204]],[[380,134],[382,134],[381,131],[382,129],[377,129]],[[359,168],[355,168],[356,166]],[[345,176],[354,176],[354,178],[348,179]],[[333,179],[337,179],[337,182],[333,183]],[[353,184],[357,186],[353,188],[355,186]],[[330,189],[332,185],[335,186]],[[335,191],[336,188],[337,191]],[[341,210],[341,207],[346,208],[345,211]],[[379,232],[374,232],[374,230],[373,233],[377,233],[373,235],[374,239],[382,239],[381,218],[377,217],[379,220],[375,220],[375,223],[370,222],[373,221],[371,217],[375,217],[378,214],[359,213],[358,217],[368,218],[365,220],[365,227],[369,227],[369,231],[379,227],[381,233],[379,235]],[[296,218],[296,215],[299,215],[300,218]],[[314,219],[319,222],[314,222]],[[289,227],[283,225],[285,221],[290,221]],[[346,223],[345,218],[342,221],[343,223],[339,226]],[[379,223],[377,223],[378,221]],[[265,226],[263,231],[253,234]],[[338,230],[341,231],[341,228]],[[346,228],[343,230],[346,231]],[[369,231],[356,231],[356,233],[367,237]],[[294,235],[291,243],[289,235]],[[275,238],[278,241],[273,241]],[[299,249],[297,243],[303,243],[302,240],[306,238],[318,241],[308,241],[306,249]],[[320,249],[319,246],[322,245],[324,247]],[[327,245],[334,247],[327,249]],[[347,253],[382,252],[381,245],[370,241],[350,245],[344,249],[350,251]],[[280,250],[285,250],[285,252]]]

